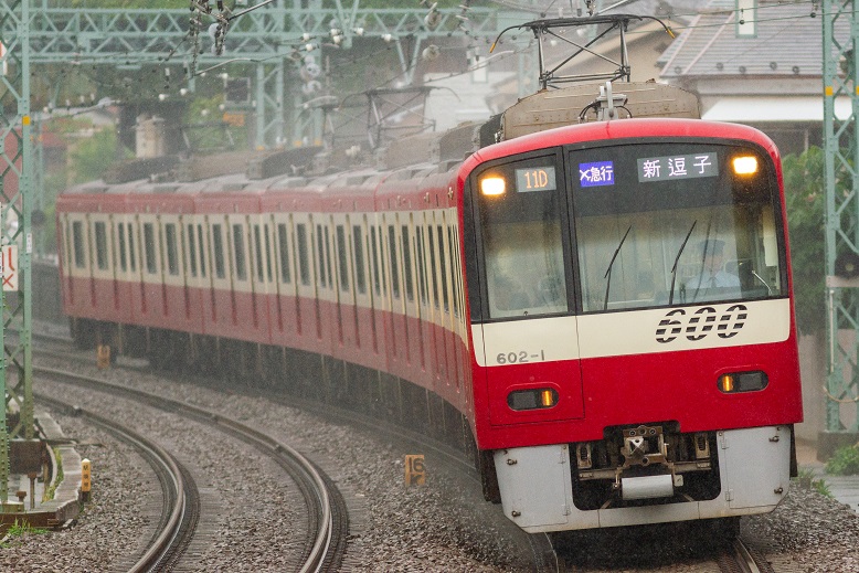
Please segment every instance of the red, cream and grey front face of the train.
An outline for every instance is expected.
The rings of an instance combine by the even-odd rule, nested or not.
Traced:
[[[802,392],[772,141],[594,123],[462,173],[487,497],[529,532],[774,509]]]

